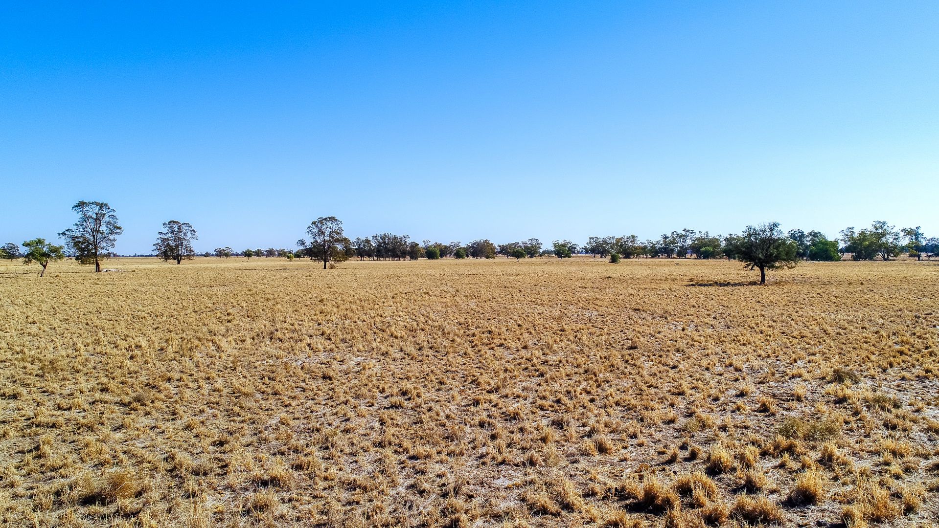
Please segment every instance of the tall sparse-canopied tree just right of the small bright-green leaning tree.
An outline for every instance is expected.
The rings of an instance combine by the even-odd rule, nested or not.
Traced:
[[[124,229],[117,224],[115,210],[103,202],[85,202],[71,207],[78,214],[75,225],[59,236],[65,240],[69,254],[80,264],[95,264],[95,273],[101,272],[101,258],[110,256],[117,235]]]

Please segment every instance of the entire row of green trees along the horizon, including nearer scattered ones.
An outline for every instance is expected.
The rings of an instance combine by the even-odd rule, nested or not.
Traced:
[[[22,251],[19,245],[10,242],[0,247],[0,259],[23,259],[24,264],[39,264],[42,267],[40,277],[45,274],[48,264],[66,256],[80,264],[94,264],[95,272],[100,272],[100,261],[115,256],[112,249],[117,236],[123,232],[115,210],[103,202],[85,201],[72,206],[72,210],[78,215],[78,220],[72,227],[59,233],[65,242],[64,246],[55,246],[45,239],[35,238],[23,242],[25,251]],[[198,239],[198,235],[190,223],[167,220],[163,222],[162,229],[153,244],[156,257],[182,264],[182,261],[198,254],[192,248],[192,242]],[[205,251],[201,255],[220,258],[243,256],[248,259],[282,257],[290,260],[305,257],[322,262],[324,269],[349,259],[495,259],[499,255],[516,260],[546,256],[565,259],[577,253],[590,254],[594,258],[609,257],[612,263],[632,258],[726,258],[740,261],[749,269],[759,269],[762,283],[767,270],[792,267],[799,261],[839,261],[845,254],[854,261],[889,261],[904,253],[916,260],[924,257],[931,260],[939,253],[939,238],[926,237],[918,226],[898,230],[882,220],[874,221],[869,228],[844,229],[840,237],[833,240],[818,231],[806,233],[793,229],[783,234],[777,222],[768,222],[755,227],[747,226],[741,234],[722,236],[683,229],[644,242],[639,241],[635,234],[591,236],[582,246],[569,240],[555,240],[549,249],[543,248],[537,238],[498,246],[487,239],[473,240],[465,245],[430,240],[418,243],[407,234],[390,233],[350,240],[344,233],[343,222],[335,217],[313,220],[306,232],[309,238],[298,240],[296,250],[258,248],[239,252],[226,246]]]

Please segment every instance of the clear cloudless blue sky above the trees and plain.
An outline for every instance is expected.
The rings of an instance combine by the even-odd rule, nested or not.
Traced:
[[[196,6],[196,4],[200,4]],[[0,243],[939,235],[939,3],[5,2]]]

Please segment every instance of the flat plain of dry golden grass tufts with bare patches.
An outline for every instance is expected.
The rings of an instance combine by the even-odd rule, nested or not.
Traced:
[[[104,266],[0,264],[4,525],[939,513],[936,263]]]

